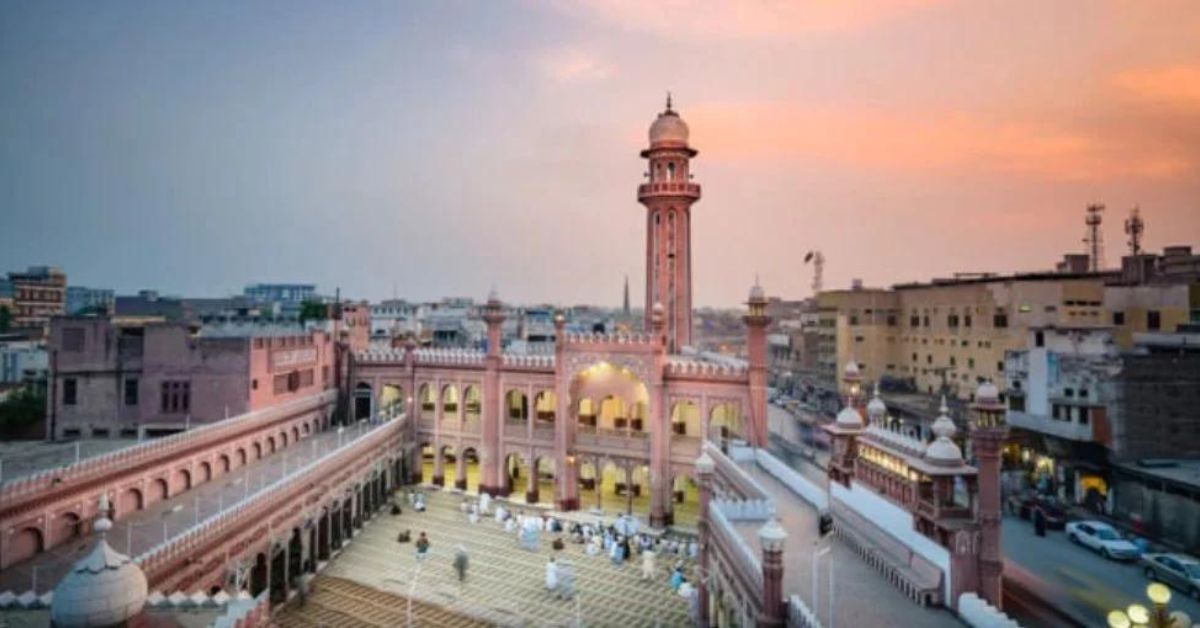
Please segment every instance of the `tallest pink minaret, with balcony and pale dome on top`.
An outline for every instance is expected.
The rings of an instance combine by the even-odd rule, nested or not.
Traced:
[[[646,329],[655,304],[666,315],[667,351],[691,345],[691,204],[700,201],[700,185],[691,183],[688,125],[667,108],[650,125],[648,183],[637,186],[646,205]]]

